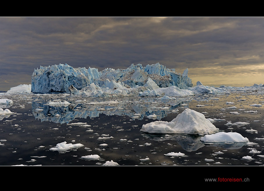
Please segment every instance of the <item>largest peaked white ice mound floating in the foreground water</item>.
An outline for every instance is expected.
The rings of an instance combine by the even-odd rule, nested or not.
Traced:
[[[184,133],[184,134],[212,134],[218,132],[209,120],[199,112],[185,109],[171,122],[154,121],[143,125],[141,130],[146,133]]]

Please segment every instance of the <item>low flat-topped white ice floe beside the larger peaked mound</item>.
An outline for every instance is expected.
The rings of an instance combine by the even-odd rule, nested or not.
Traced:
[[[243,137],[235,132],[219,132],[212,135],[205,135],[201,141],[207,143],[246,143],[249,142],[248,138]]]

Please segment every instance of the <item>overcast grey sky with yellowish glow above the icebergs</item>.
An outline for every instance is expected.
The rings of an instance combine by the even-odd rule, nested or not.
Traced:
[[[194,85],[264,83],[264,18],[0,18],[0,90],[31,84],[34,68],[165,65]]]

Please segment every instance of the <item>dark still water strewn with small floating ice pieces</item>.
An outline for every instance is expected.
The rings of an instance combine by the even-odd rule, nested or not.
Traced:
[[[263,165],[263,107],[252,107],[251,104],[261,104],[264,97],[259,94],[230,94],[216,96],[193,96],[178,98],[177,100],[160,100],[159,98],[68,98],[67,95],[8,95],[14,105],[8,109],[16,112],[0,121],[0,165],[42,165],[42,166],[97,166],[113,160],[124,166],[259,166]],[[218,98],[219,100],[213,100]],[[44,105],[49,100],[61,99],[72,103],[67,107]],[[84,100],[83,103],[75,102]],[[245,99],[239,101],[241,99]],[[118,105],[85,105],[91,101],[118,100]],[[127,103],[131,101],[132,103]],[[140,101],[140,103],[134,103]],[[157,102],[154,103],[153,102]],[[234,104],[226,104],[233,102]],[[182,105],[183,103],[187,105]],[[22,106],[24,105],[24,107]],[[205,105],[196,107],[196,105]],[[236,106],[237,109],[222,108]],[[22,108],[21,108],[22,107]],[[169,107],[169,109],[164,109]],[[250,145],[214,144],[206,145],[200,141],[201,136],[187,134],[149,134],[140,131],[143,124],[155,120],[171,121],[185,108],[198,112],[208,112],[207,118],[226,119],[213,124],[221,131],[237,132],[247,137]],[[36,108],[43,109],[36,112]],[[104,108],[105,110],[98,110]],[[123,109],[121,109],[123,108]],[[5,109],[5,108],[3,108]],[[178,109],[179,112],[171,112]],[[245,109],[239,111],[239,109]],[[256,113],[244,111],[257,110]],[[230,114],[237,111],[240,114]],[[139,118],[131,118],[134,114],[141,114]],[[158,119],[148,119],[146,116],[157,114]],[[59,117],[55,117],[59,114]],[[6,121],[10,120],[10,121]],[[261,122],[253,122],[260,120]],[[247,126],[226,126],[227,121],[232,123],[249,122]],[[67,125],[83,122],[90,127]],[[18,126],[14,126],[17,124]],[[57,130],[54,128],[58,128]],[[229,129],[228,129],[229,128]],[[230,129],[233,128],[233,129]],[[246,130],[254,129],[257,133]],[[87,132],[93,130],[92,132]],[[96,133],[96,134],[95,134]],[[100,140],[103,134],[111,139]],[[120,139],[126,139],[121,141]],[[75,140],[75,142],[72,142]],[[84,146],[66,152],[49,150],[56,144],[81,143]],[[107,146],[99,146],[100,144]],[[42,146],[42,147],[40,147]],[[90,149],[88,149],[90,148]],[[250,154],[248,148],[260,151],[259,154]],[[216,152],[221,151],[223,154]],[[164,154],[181,152],[182,157],[168,157]],[[97,154],[99,160],[85,160],[82,156]],[[243,160],[242,157],[251,156],[254,160]],[[41,158],[37,158],[41,157]],[[146,159],[149,160],[140,160]],[[31,161],[35,159],[36,161]],[[213,159],[208,162],[205,159]],[[29,162],[31,161],[31,162]]]

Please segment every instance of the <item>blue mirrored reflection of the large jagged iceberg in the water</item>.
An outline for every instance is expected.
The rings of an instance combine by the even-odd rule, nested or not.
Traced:
[[[75,118],[99,117],[105,115],[127,115],[131,119],[142,120],[144,117],[156,114],[157,119],[161,120],[176,108],[188,107],[191,99],[179,98],[177,100],[158,100],[157,98],[140,99],[136,102],[118,100],[118,104],[86,105],[88,102],[72,102],[69,106],[50,106],[46,102],[37,100],[32,102],[32,113],[35,119],[41,121],[52,121],[54,123],[69,123]],[[41,109],[41,110],[38,110]],[[43,111],[42,111],[43,109]],[[156,118],[155,118],[156,119]]]

